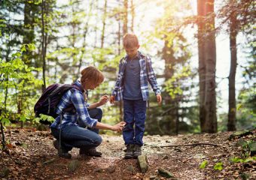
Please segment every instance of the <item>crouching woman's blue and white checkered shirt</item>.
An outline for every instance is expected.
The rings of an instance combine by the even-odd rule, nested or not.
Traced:
[[[75,85],[81,87],[80,81],[77,80],[75,82]],[[87,102],[84,101],[83,93],[78,89],[71,89],[64,95],[62,95],[62,98],[56,108],[56,114],[58,114],[58,116],[56,117],[55,121],[53,121],[53,123],[50,125],[50,127],[59,128],[60,114],[62,113],[63,109],[69,107],[71,104],[75,106],[76,113],[65,113],[64,115],[62,115],[61,127],[65,127],[66,125],[77,126],[78,119],[80,123],[84,124],[87,127],[96,126],[97,119],[90,118],[87,110],[87,107],[89,107],[90,104],[87,104]]]

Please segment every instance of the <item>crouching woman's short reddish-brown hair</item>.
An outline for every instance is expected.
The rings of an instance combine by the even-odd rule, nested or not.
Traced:
[[[84,86],[86,83],[100,84],[104,80],[104,76],[101,71],[89,66],[81,71],[81,85]]]

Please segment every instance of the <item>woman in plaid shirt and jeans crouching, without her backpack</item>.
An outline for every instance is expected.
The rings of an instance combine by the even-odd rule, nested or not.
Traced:
[[[62,95],[56,108],[58,117],[50,125],[51,132],[56,138],[53,145],[58,150],[60,157],[71,158],[69,151],[74,147],[80,148],[80,154],[101,156],[102,153],[96,151],[96,147],[102,142],[99,129],[117,132],[123,130],[125,124],[123,121],[114,126],[100,122],[102,110],[97,107],[105,104],[108,101],[108,96],[102,96],[100,101],[95,104],[90,105],[86,102],[87,96],[83,92],[87,92],[88,89],[95,89],[103,80],[104,76],[101,71],[94,67],[84,68],[81,71],[81,81],[77,80],[74,83],[76,88]],[[75,113],[62,113],[71,105],[75,107]]]

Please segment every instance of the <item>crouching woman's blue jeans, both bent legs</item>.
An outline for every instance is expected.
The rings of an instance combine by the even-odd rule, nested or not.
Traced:
[[[99,108],[88,110],[91,118],[102,120],[102,110]],[[79,124],[78,124],[79,125]],[[51,132],[56,139],[59,139],[59,129],[51,128]],[[95,127],[84,128],[75,125],[66,125],[61,129],[62,151],[70,151],[72,148],[96,148],[102,142],[99,130]]]

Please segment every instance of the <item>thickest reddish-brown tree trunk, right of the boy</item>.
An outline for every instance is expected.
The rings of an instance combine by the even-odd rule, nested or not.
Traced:
[[[200,76],[200,127],[205,133],[217,132],[216,44],[214,0],[197,0],[198,56]]]

